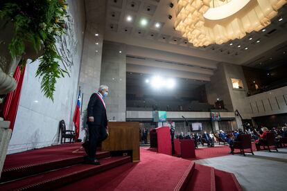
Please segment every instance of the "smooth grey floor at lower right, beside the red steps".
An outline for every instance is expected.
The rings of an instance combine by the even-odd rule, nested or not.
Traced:
[[[260,151],[254,156],[236,154],[195,161],[235,174],[243,190],[287,190],[287,149],[279,152]]]

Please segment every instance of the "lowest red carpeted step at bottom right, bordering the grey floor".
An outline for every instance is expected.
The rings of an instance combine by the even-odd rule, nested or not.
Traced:
[[[222,170],[215,170],[216,190],[220,191],[241,191],[241,185],[238,183],[234,174]]]

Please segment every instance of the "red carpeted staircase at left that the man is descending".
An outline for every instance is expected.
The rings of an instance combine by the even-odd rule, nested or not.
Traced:
[[[82,155],[36,162],[33,165],[4,165],[0,190],[53,190],[131,162],[130,156],[111,157],[110,152],[98,152],[96,157],[101,165],[84,164]]]

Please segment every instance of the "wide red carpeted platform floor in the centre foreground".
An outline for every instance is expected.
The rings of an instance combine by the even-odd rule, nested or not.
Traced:
[[[117,167],[119,174],[103,172],[60,190],[175,190],[184,173],[190,172],[193,165],[182,158],[141,149],[141,162]],[[126,171],[121,173],[121,170]]]

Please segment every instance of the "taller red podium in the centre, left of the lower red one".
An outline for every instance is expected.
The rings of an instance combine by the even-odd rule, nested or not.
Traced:
[[[159,153],[172,155],[169,127],[157,127],[150,130],[150,147],[156,148]]]

